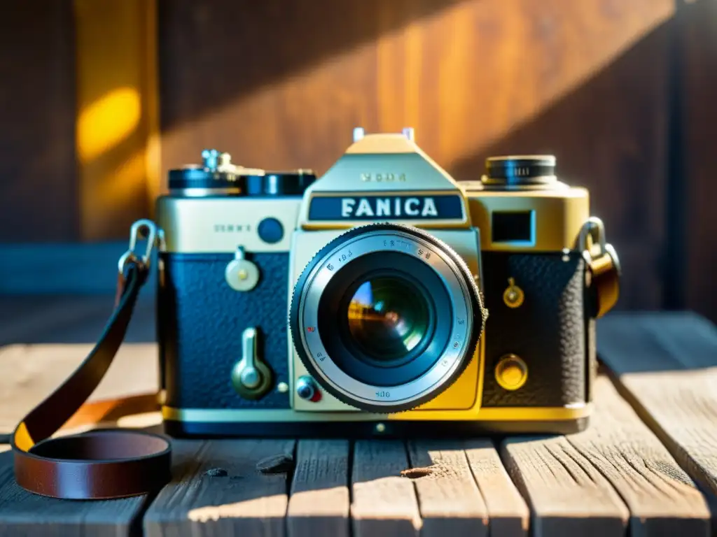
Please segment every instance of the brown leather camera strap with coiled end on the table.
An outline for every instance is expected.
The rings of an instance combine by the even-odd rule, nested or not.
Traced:
[[[158,490],[171,478],[171,445],[161,435],[113,429],[50,438],[98,387],[123,342],[148,272],[136,258],[125,259],[123,266],[117,304],[98,343],[11,437],[15,480],[32,493],[75,500],[125,498]]]

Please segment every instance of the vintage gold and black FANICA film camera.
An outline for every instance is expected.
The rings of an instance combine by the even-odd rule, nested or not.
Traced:
[[[554,157],[490,158],[457,182],[411,129],[360,128],[318,179],[203,157],[157,205],[166,432],[587,425],[619,266]]]

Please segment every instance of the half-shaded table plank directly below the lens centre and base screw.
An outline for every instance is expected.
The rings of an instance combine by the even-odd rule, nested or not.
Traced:
[[[354,537],[418,536],[421,528],[403,442],[362,440],[353,448],[351,522]]]

